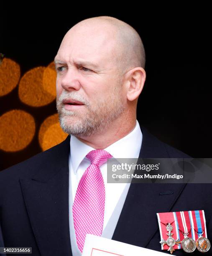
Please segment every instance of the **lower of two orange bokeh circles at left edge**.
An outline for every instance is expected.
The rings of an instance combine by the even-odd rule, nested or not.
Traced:
[[[10,110],[0,116],[0,149],[20,151],[31,143],[35,134],[33,116],[23,110]]]

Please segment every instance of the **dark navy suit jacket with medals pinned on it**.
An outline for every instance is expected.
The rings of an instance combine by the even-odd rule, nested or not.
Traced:
[[[159,141],[145,128],[141,127],[141,131],[140,158],[188,157]],[[35,256],[72,256],[69,142],[70,136],[59,145],[0,172],[0,225],[5,246],[32,247]],[[212,241],[211,184],[131,183],[112,239],[161,251],[156,213],[183,210],[205,211],[208,238]],[[182,250],[173,254],[187,255]],[[192,254],[202,255],[197,250]],[[212,255],[212,249],[204,255]]]

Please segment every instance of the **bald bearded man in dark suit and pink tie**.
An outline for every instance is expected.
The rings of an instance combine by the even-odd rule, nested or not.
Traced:
[[[210,185],[106,181],[111,157],[187,157],[136,120],[146,79],[138,33],[112,17],[82,20],[66,33],[55,64],[59,120],[71,136],[0,173],[5,246],[32,247],[33,255],[77,256],[89,230],[161,251],[156,213],[202,209],[210,239]]]

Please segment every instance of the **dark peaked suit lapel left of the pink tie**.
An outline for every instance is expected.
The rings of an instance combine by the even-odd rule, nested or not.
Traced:
[[[69,141],[46,151],[45,169],[20,179],[26,209],[41,255],[72,256],[69,235]],[[42,161],[43,168],[43,161]]]

